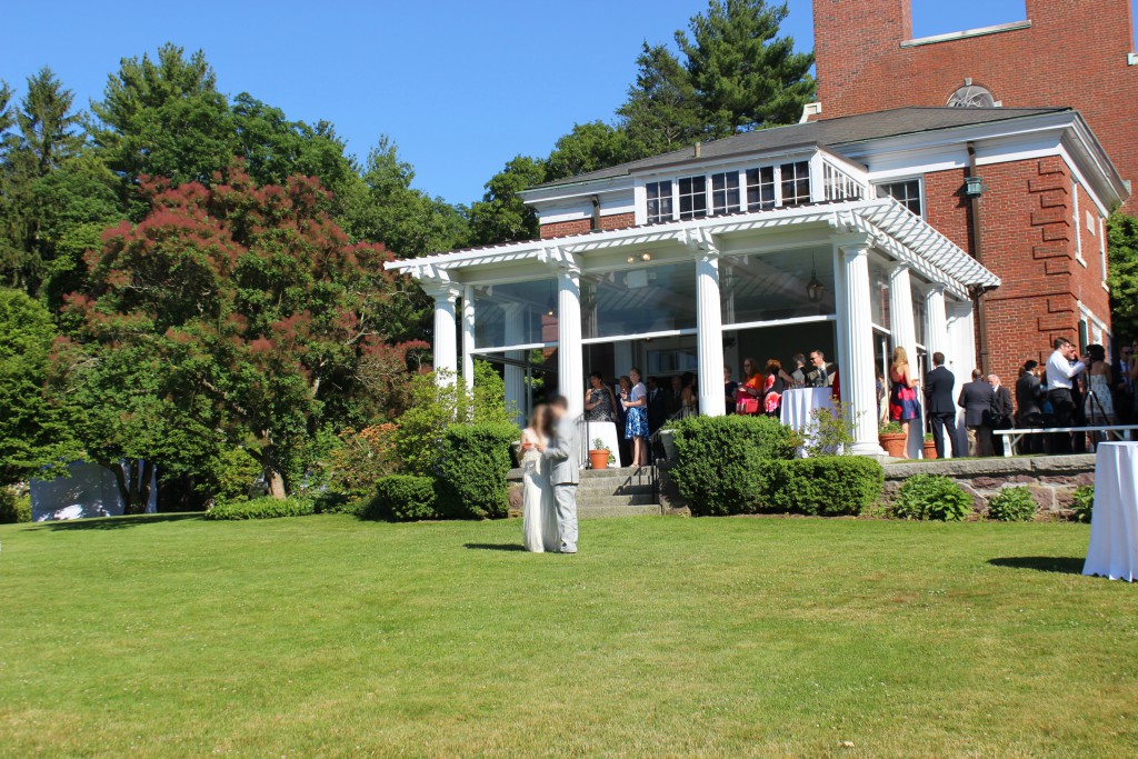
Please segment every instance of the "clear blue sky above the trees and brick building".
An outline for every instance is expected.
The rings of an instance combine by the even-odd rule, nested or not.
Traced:
[[[0,79],[22,91],[49,65],[81,104],[122,57],[166,41],[205,50],[220,88],[250,92],[290,118],[336,124],[364,156],[380,134],[399,145],[415,185],[470,203],[518,154],[544,156],[575,122],[609,119],[635,75],[643,40],[662,42],[706,0],[391,0],[251,2],[57,0],[6,9]],[[810,0],[784,27],[813,47]],[[1025,16],[1023,0],[914,0],[916,35]]]

